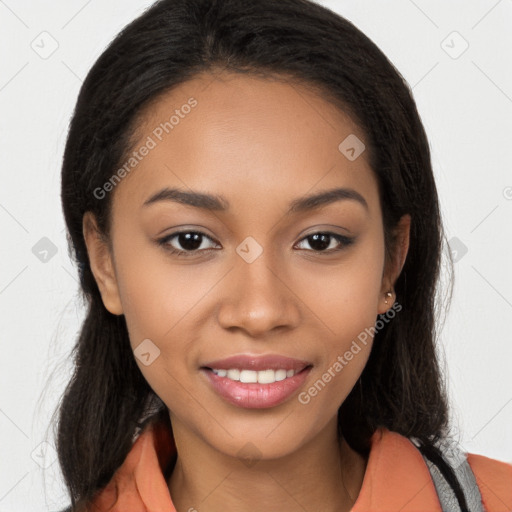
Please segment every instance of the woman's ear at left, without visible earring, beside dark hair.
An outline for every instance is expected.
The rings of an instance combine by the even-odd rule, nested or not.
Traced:
[[[82,231],[91,271],[100,290],[103,304],[113,315],[123,314],[115,274],[112,251],[105,235],[98,229],[92,212],[85,212],[82,219]]]

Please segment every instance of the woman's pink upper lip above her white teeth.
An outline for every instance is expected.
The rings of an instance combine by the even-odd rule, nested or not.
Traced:
[[[225,359],[210,361],[202,365],[206,368],[215,368],[219,370],[230,370],[238,368],[240,370],[294,370],[300,372],[307,366],[311,366],[309,361],[294,359],[278,354],[266,354],[255,356],[250,354],[239,354]]]

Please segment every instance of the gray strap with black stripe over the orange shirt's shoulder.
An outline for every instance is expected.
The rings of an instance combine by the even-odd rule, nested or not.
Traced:
[[[413,442],[417,445],[415,440]],[[422,454],[432,476],[443,512],[485,512],[482,496],[478,489],[475,475],[467,461],[466,454],[452,440],[444,439],[442,442],[437,443],[436,446],[440,448],[443,459],[455,473],[469,507],[467,511],[461,510],[453,489],[439,468]]]

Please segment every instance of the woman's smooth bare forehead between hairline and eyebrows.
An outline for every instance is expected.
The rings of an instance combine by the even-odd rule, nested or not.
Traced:
[[[361,128],[320,93],[285,79],[199,75],[153,101],[137,132],[137,161],[128,155],[124,163],[131,155],[134,165],[125,165],[114,194],[131,208],[164,187],[222,195],[234,209],[282,210],[315,189],[345,186],[370,209],[378,201],[368,152],[350,160],[340,150],[347,137],[366,143]]]

